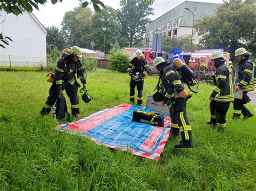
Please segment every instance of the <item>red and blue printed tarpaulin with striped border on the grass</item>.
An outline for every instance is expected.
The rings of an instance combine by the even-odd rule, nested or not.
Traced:
[[[165,126],[153,126],[132,121],[134,110],[153,110],[131,104],[121,104],[104,109],[88,117],[69,124],[56,126],[56,129],[79,133],[93,142],[129,151],[140,157],[159,160],[169,138],[170,117],[164,115]]]

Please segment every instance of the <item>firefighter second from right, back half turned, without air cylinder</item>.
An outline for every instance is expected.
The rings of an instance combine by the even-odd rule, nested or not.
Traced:
[[[232,69],[225,65],[223,53],[215,51],[211,54],[211,61],[216,68],[213,77],[215,87],[210,95],[211,120],[207,124],[216,126],[223,131],[226,128],[226,114],[230,107],[230,102],[234,101]]]

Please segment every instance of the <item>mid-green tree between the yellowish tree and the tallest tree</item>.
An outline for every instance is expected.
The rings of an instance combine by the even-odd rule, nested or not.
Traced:
[[[95,49],[104,50],[105,36],[105,53],[111,49],[111,44],[118,46],[121,32],[117,12],[110,6],[106,6],[106,10],[95,13],[92,16],[92,34],[95,41]]]

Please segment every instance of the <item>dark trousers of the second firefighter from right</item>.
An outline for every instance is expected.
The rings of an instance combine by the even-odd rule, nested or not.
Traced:
[[[213,125],[217,125],[220,129],[226,128],[226,114],[228,108],[230,108],[230,102],[216,102],[215,100],[210,102],[211,122]]]

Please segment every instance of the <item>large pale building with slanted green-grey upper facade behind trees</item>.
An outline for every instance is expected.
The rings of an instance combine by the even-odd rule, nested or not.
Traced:
[[[146,45],[152,47],[153,34],[163,34],[163,36],[175,38],[191,35],[193,20],[196,22],[196,20],[202,16],[213,15],[220,5],[221,4],[217,3],[201,3],[191,1],[181,3],[180,5],[176,6],[176,8],[173,8],[164,15],[147,24],[145,35]],[[198,34],[195,32],[193,32],[193,43],[199,43]]]

